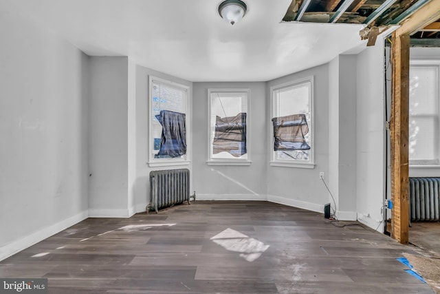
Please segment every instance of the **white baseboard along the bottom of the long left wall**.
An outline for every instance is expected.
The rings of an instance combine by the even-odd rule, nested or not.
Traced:
[[[52,224],[50,227],[46,227],[30,235],[26,235],[19,240],[12,241],[3,247],[0,247],[0,261],[28,248],[29,246],[45,240],[45,238],[49,238],[51,235],[59,233],[68,227],[72,227],[74,224],[78,224],[78,222],[81,222],[88,217],[89,211],[83,211],[75,216],[62,220],[61,222]]]

